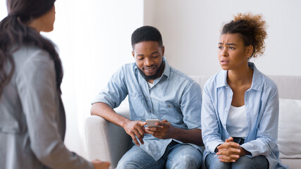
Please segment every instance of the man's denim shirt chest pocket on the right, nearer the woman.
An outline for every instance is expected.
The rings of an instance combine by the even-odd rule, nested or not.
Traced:
[[[160,120],[168,120],[169,123],[183,123],[183,114],[175,104],[159,103]]]

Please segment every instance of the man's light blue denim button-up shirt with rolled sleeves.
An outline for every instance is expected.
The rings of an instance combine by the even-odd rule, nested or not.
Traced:
[[[104,102],[116,108],[128,95],[130,120],[145,122],[146,119],[166,119],[173,127],[201,129],[201,87],[188,75],[171,68],[165,57],[164,60],[164,72],[154,80],[152,88],[149,89],[135,63],[128,63],[113,74],[107,87],[97,95],[92,104]],[[175,139],[157,139],[151,134],[145,134],[145,144],[140,147],[158,161],[172,140]],[[191,145],[202,151],[200,146]]]

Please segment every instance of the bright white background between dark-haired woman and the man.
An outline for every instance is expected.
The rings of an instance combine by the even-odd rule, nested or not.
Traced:
[[[142,22],[140,0],[56,1],[54,31],[43,35],[59,47],[63,63],[65,144],[81,156],[91,101],[121,65],[134,61],[130,36]]]

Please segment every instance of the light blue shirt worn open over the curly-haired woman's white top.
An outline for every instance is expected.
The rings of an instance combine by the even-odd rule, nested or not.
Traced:
[[[280,163],[277,146],[279,100],[276,84],[248,63],[254,70],[252,85],[245,92],[248,133],[242,148],[252,156],[263,155],[270,168],[285,168]],[[202,103],[202,137],[204,159],[230,135],[226,128],[233,92],[227,83],[227,71],[221,70],[204,85]]]

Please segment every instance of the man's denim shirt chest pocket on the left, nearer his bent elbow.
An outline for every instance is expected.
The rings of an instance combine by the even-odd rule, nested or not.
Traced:
[[[134,118],[133,120],[141,120],[137,118],[144,118],[145,113],[147,112],[145,97],[140,93],[131,93],[129,94],[129,96],[130,107],[133,108],[132,110],[130,110],[131,117]]]

